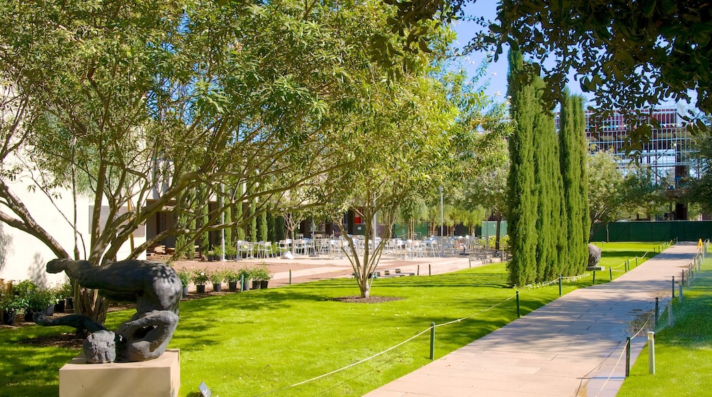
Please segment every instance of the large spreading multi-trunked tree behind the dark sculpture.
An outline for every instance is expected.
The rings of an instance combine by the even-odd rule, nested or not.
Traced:
[[[181,198],[183,208],[205,208],[215,196],[226,206],[259,201],[233,224],[220,222],[222,205],[207,221],[193,211],[196,228],[162,231],[127,258],[171,235],[192,244],[244,226],[269,198],[352,164],[340,156],[349,137],[328,115],[365,95],[354,78],[368,64],[362,43],[389,33],[362,23],[363,14],[382,12],[373,4],[337,9],[290,0],[4,3],[0,77],[14,118],[2,131],[1,220],[70,256],[5,183],[36,170],[49,196],[69,189],[93,201],[88,244],[76,243],[74,256],[101,265],[184,191],[210,189]],[[220,184],[246,189],[214,189]],[[76,218],[68,223],[82,239]],[[82,292],[78,312],[103,322],[105,302],[92,293]]]

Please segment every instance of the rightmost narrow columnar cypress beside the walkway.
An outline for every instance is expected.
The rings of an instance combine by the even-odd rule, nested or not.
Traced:
[[[565,92],[561,102],[559,146],[569,244],[565,272],[569,275],[582,272],[588,258],[590,218],[585,129],[583,97]]]

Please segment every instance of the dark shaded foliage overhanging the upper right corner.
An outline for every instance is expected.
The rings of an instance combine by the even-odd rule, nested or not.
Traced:
[[[543,71],[551,106],[575,70],[600,109],[689,100],[689,90],[695,90],[697,107],[710,112],[711,21],[705,1],[506,0],[491,31],[498,52],[505,43],[516,45]],[[632,131],[632,144],[646,139],[646,132]]]

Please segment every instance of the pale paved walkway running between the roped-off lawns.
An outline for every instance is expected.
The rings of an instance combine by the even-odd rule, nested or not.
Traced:
[[[696,252],[696,243],[676,244],[613,282],[570,292],[366,396],[615,396],[625,377],[626,337],[636,335],[634,362],[654,322],[655,297],[662,312],[671,277],[679,280]]]

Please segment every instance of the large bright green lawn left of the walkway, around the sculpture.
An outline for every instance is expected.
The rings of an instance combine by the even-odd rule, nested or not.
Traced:
[[[603,260],[619,264],[641,257],[654,243],[607,243]],[[649,255],[648,257],[649,258]],[[614,274],[614,276],[616,276]],[[181,303],[172,348],[181,349],[180,396],[196,395],[204,381],[220,396],[361,396],[430,362],[429,331],[414,340],[322,379],[288,387],[377,354],[436,327],[439,358],[516,318],[515,290],[506,287],[504,264],[446,275],[380,278],[372,295],[399,297],[379,304],[336,302],[357,295],[354,280],[206,297]],[[597,275],[597,283],[607,281]],[[563,292],[591,285],[592,277],[565,282]],[[558,297],[558,285],[520,290],[521,314]],[[111,329],[132,312],[108,316]],[[13,342],[68,328],[0,330],[0,396],[52,396],[57,371],[77,352]]]

